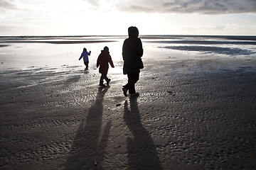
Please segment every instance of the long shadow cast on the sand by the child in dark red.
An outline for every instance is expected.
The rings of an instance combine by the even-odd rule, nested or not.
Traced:
[[[108,89],[109,86],[98,89],[95,104],[90,108],[86,120],[80,123],[65,169],[102,169],[111,128],[110,121],[105,125],[100,139],[103,99]]]

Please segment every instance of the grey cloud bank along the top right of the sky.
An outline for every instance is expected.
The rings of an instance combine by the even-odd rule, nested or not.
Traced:
[[[256,13],[255,0],[127,0],[116,4],[119,11],[146,13]]]

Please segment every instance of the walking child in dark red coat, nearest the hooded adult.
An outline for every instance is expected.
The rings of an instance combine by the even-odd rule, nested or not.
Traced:
[[[103,79],[107,81],[107,84],[110,83],[110,79],[107,78],[107,71],[109,69],[109,63],[112,68],[114,68],[114,64],[112,62],[112,58],[110,56],[109,48],[107,46],[104,47],[104,50],[101,51],[99,57],[97,58],[97,67],[100,66],[99,72],[102,74],[100,77],[99,86],[105,86],[103,84]]]

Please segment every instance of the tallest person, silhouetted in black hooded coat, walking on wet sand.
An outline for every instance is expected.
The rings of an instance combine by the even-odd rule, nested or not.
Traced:
[[[122,57],[124,60],[124,72],[127,73],[128,83],[123,86],[122,90],[124,96],[127,96],[127,91],[131,96],[137,96],[139,93],[135,91],[135,84],[139,80],[139,61],[142,62],[141,57],[143,55],[142,40],[138,38],[139,30],[136,27],[128,28],[129,38],[124,40],[122,47]]]

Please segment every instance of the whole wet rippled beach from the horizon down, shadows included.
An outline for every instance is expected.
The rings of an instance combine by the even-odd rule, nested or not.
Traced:
[[[256,169],[255,37],[142,37],[138,97],[124,38],[0,38],[0,169]]]

